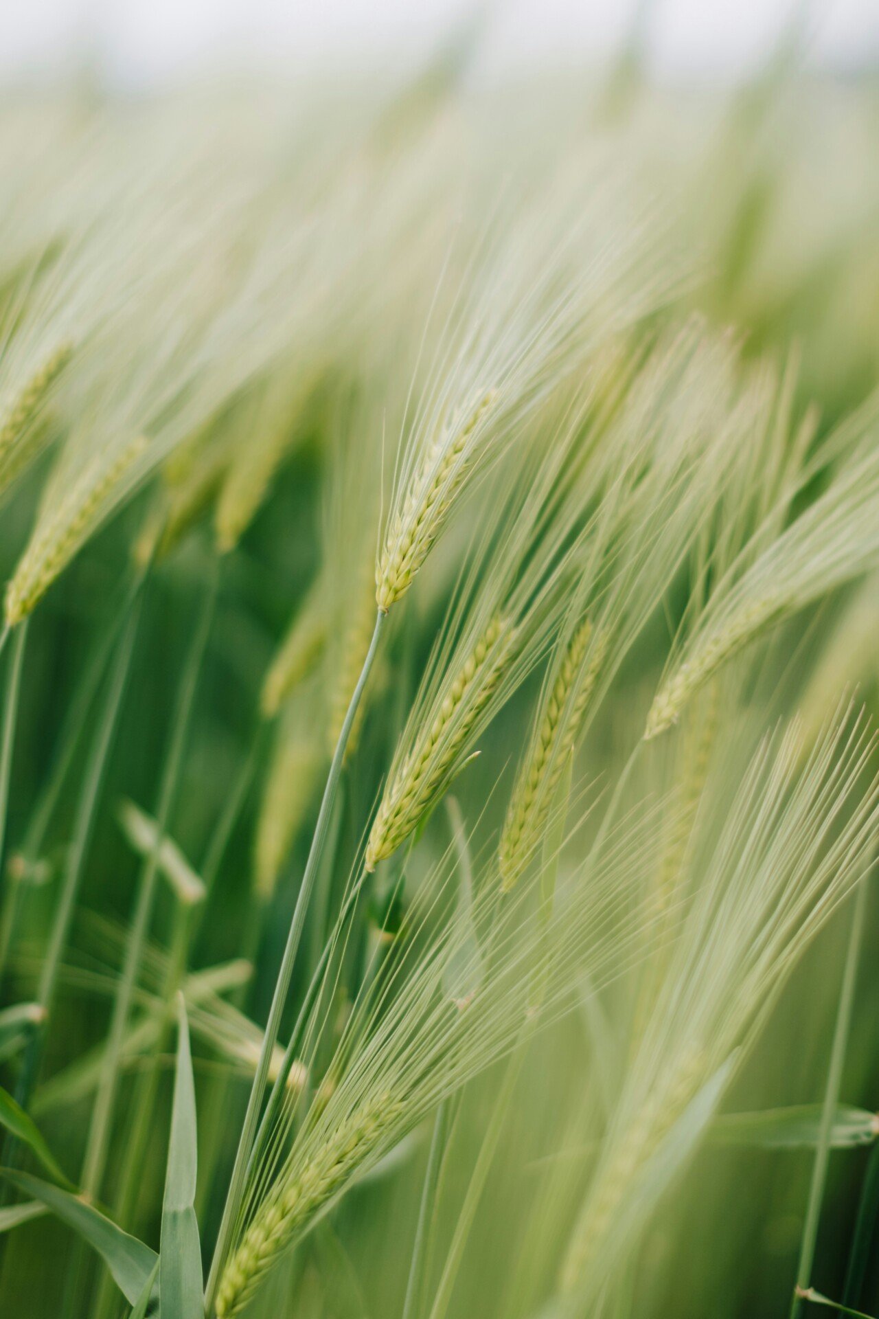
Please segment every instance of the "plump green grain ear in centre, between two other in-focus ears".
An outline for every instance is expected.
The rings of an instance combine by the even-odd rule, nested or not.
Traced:
[[[455,768],[480,714],[510,658],[515,629],[496,616],[452,679],[427,733],[406,756],[385,790],[366,843],[365,865],[397,851]]]

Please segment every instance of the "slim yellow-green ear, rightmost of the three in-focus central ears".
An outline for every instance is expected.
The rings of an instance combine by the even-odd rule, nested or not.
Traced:
[[[598,634],[589,653],[590,637],[592,624],[586,619],[561,658],[531,752],[519,770],[498,847],[503,892],[522,876],[543,836],[555,790],[594,691],[605,658],[606,633]],[[589,662],[584,663],[586,658]]]

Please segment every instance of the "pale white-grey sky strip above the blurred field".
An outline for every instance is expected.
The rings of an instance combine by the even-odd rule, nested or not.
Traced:
[[[596,58],[625,36],[637,0],[488,0],[488,69]],[[0,0],[0,77],[51,73],[86,57],[121,84],[206,66],[369,62],[426,53],[473,0]],[[803,0],[652,0],[654,66],[734,75],[752,66]],[[812,57],[879,59],[879,0],[812,0]]]

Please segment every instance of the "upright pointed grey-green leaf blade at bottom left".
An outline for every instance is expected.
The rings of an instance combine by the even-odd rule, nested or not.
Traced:
[[[158,1290],[162,1319],[203,1319],[202,1248],[195,1217],[195,1083],[186,1004],[179,1000],[177,1076],[167,1148]]]

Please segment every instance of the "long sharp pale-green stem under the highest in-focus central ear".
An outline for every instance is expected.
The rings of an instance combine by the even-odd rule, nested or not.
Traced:
[[[311,898],[311,890],[314,888],[315,877],[318,874],[318,863],[320,861],[320,852],[323,848],[327,826],[329,823],[329,814],[336,795],[336,787],[339,785],[339,776],[341,774],[345,748],[348,745],[348,737],[351,736],[351,727],[354,721],[354,715],[357,714],[357,706],[360,704],[360,698],[362,695],[366,679],[369,677],[369,671],[376,658],[376,652],[378,649],[378,640],[381,637],[383,621],[385,621],[385,615],[380,609],[378,613],[376,615],[376,628],[373,630],[373,637],[369,644],[369,652],[364,661],[360,678],[357,679],[357,686],[354,687],[353,695],[351,698],[348,712],[345,714],[345,720],[341,725],[341,732],[339,733],[339,741],[336,743],[336,749],[333,752],[329,773],[327,776],[327,785],[324,787],[323,799],[320,802],[320,811],[318,813],[318,823],[315,824],[315,832],[311,839],[308,860],[306,861],[306,869],[302,877],[302,886],[299,889],[299,896],[297,897],[297,905],[294,907],[293,921],[290,922],[290,933],[287,935],[287,944],[283,950],[283,959],[281,962],[281,969],[278,972],[278,979],[274,987],[271,1008],[269,1009],[269,1020],[266,1022],[265,1034],[262,1037],[262,1050],[260,1053],[260,1062],[257,1063],[257,1072],[256,1076],[253,1078],[253,1086],[250,1087],[250,1097],[248,1100],[248,1109],[244,1116],[244,1124],[241,1126],[241,1137],[239,1140],[239,1149],[235,1157],[235,1166],[232,1169],[232,1181],[229,1183],[229,1191],[225,1198],[225,1206],[223,1208],[223,1220],[220,1223],[220,1232],[217,1235],[217,1242],[213,1250],[213,1260],[211,1261],[211,1273],[208,1277],[208,1285],[206,1293],[206,1308],[208,1312],[212,1310],[213,1306],[213,1298],[216,1295],[216,1289],[220,1281],[220,1273],[223,1270],[223,1265],[225,1264],[225,1256],[229,1249],[232,1233],[237,1223],[239,1210],[241,1207],[241,1200],[244,1198],[246,1170],[250,1159],[250,1150],[253,1148],[253,1140],[257,1133],[260,1105],[262,1103],[262,1093],[265,1091],[265,1083],[269,1075],[271,1050],[274,1049],[275,1041],[278,1038],[278,1031],[281,1029],[281,1016],[283,1013],[283,1008],[287,1000],[287,991],[290,989],[293,967],[297,959],[297,952],[299,950],[299,942],[302,939],[302,931],[304,927],[306,911],[308,909],[308,902]]]

